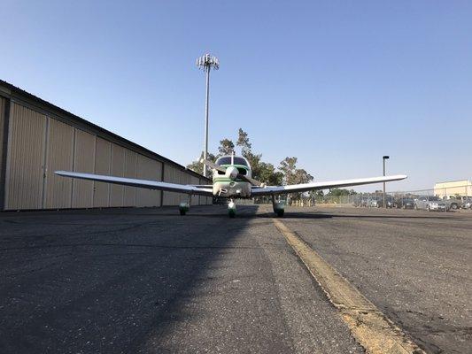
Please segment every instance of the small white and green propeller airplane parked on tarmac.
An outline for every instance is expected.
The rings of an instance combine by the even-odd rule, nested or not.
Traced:
[[[228,197],[230,200],[228,203],[228,215],[231,218],[236,216],[235,198],[272,196],[274,212],[277,216],[282,217],[284,213],[284,204],[278,201],[276,196],[316,189],[333,189],[406,179],[406,175],[398,174],[393,176],[360,178],[355,180],[310,182],[287,186],[267,186],[266,184],[252,178],[251,165],[244,157],[235,156],[233,154],[231,156],[227,155],[217,158],[214,163],[205,159],[202,159],[200,162],[213,169],[212,185],[177,184],[68,171],[56,171],[55,173],[60,176],[81,180],[100,181],[144,189],[159,189],[185,193],[189,195],[189,201],[179,204],[181,215],[185,215],[185,213],[190,210],[190,198],[192,195]]]

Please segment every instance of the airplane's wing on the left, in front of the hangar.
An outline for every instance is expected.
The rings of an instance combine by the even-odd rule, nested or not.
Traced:
[[[200,196],[213,196],[212,186],[196,186],[188,184],[167,183],[159,181],[136,180],[134,178],[104,176],[91,173],[77,173],[68,171],[56,171],[56,174],[64,177],[78,178],[81,180],[100,181],[106,183],[122,184],[124,186],[139,187],[144,189],[159,189],[170,192],[187,193]]]

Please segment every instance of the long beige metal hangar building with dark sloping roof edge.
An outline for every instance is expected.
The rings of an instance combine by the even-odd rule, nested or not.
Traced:
[[[97,173],[182,184],[202,175],[0,81],[0,211],[177,205],[188,196],[60,177]],[[212,198],[192,196],[192,205]]]

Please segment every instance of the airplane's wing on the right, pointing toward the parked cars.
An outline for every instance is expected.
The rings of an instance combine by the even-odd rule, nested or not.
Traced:
[[[404,180],[404,179],[406,179],[405,174],[398,174],[394,176],[359,178],[355,180],[292,184],[289,186],[267,186],[267,187],[261,187],[261,188],[253,186],[251,189],[251,196],[268,196],[268,195],[275,195],[275,194],[297,193],[297,192],[306,192],[308,190],[313,190],[313,189],[333,189],[333,188],[340,188],[340,187],[359,186],[361,184],[399,181],[399,180]]]

